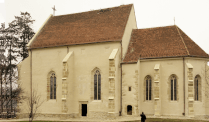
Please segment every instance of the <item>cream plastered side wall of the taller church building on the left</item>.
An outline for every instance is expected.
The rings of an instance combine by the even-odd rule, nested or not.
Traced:
[[[115,112],[117,116],[120,110],[120,62],[121,56],[120,42],[110,43],[97,43],[86,45],[75,45],[55,48],[43,48],[34,49],[32,51],[32,75],[33,75],[33,89],[36,89],[39,94],[42,95],[42,99],[45,102],[39,109],[39,113],[46,115],[60,115],[68,114],[74,117],[81,116],[80,105],[82,103],[87,104],[87,116],[97,116],[108,114],[108,97],[109,97],[109,56],[113,49],[118,49],[116,55],[115,65],[116,69],[116,89],[115,89]],[[66,111],[63,110],[62,95],[63,95],[63,62],[62,60],[68,52],[73,52],[73,58],[69,58],[67,61],[68,76],[66,78],[67,84],[67,96],[66,96]],[[23,61],[20,67],[20,74],[24,75],[24,72],[30,68],[30,57]],[[24,66],[23,66],[24,64]],[[99,69],[101,71],[101,100],[92,99],[91,83],[92,71]],[[48,73],[53,71],[56,74],[57,81],[57,97],[56,99],[47,100],[47,77]],[[22,83],[27,87],[26,92],[30,91],[28,86],[30,83],[30,73],[27,74],[27,79],[22,78]],[[28,83],[28,85],[26,85]],[[24,110],[24,107],[21,107]],[[26,111],[22,112],[25,113]],[[95,115],[95,113],[98,113]],[[99,116],[99,115],[98,115]],[[114,115],[115,116],[115,115]]]

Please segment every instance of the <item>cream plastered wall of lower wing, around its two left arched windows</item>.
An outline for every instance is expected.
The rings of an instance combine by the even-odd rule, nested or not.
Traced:
[[[141,60],[140,63],[140,81],[138,90],[140,92],[140,102],[139,102],[139,112],[145,112],[147,115],[154,115],[154,67],[156,64],[160,64],[160,99],[161,99],[161,107],[160,112],[161,115],[174,115],[181,116],[183,112],[183,63],[181,59],[176,60]],[[126,104],[135,104],[136,99],[134,95],[134,89],[136,85],[134,84],[135,75],[137,65],[136,64],[123,64],[123,114],[126,115]],[[177,76],[177,80],[179,81],[177,84],[178,95],[177,101],[169,100],[169,77],[175,74]],[[146,100],[145,98],[145,77],[151,76],[152,80],[152,100]],[[128,86],[133,86],[133,91],[128,91]],[[126,88],[127,87],[127,88]],[[129,94],[129,92],[133,92]],[[180,99],[181,98],[181,99]],[[130,103],[127,103],[129,101]],[[181,106],[181,107],[179,107]],[[174,109],[175,108],[175,109]],[[177,109],[176,109],[177,108]],[[133,109],[135,110],[135,109]],[[133,112],[134,113],[134,112]],[[133,114],[134,115],[134,114]]]

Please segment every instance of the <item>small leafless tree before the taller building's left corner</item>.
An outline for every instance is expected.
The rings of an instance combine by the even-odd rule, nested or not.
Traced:
[[[38,94],[37,90],[33,89],[29,97],[27,97],[28,115],[29,122],[37,116],[40,106],[43,104],[44,100],[41,100],[41,95]]]

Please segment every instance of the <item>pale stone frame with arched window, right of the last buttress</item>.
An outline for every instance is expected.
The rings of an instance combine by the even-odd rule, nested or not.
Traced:
[[[194,77],[194,101],[202,101],[202,80],[200,75]]]

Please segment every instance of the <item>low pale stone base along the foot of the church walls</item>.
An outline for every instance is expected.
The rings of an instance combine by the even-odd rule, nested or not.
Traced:
[[[118,116],[118,113],[111,113],[108,112],[97,112],[91,111],[89,112],[87,117],[81,117],[78,113],[73,114],[38,114],[35,119],[37,120],[76,120],[76,121],[105,121],[105,120],[126,120],[126,121],[133,121],[133,120],[140,120],[140,115],[125,115],[125,116]],[[161,118],[161,119],[191,119],[191,120],[209,120],[209,115],[195,115],[194,117],[183,116],[183,115],[161,115],[155,116],[154,114],[146,114],[147,118]],[[28,114],[17,114],[17,119],[28,118]],[[47,119],[49,118],[49,119]]]

